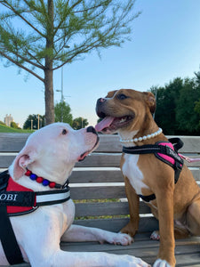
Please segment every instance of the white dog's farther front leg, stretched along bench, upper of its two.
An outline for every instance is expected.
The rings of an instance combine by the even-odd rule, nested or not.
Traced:
[[[81,225],[71,225],[61,237],[62,241],[83,242],[83,241],[104,241],[110,244],[130,245],[132,238],[127,234],[115,233],[111,231],[101,230],[99,228],[84,227]]]

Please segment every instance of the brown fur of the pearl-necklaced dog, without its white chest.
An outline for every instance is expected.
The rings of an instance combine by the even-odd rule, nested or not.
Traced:
[[[120,93],[124,93],[127,99],[118,99],[117,95]],[[131,89],[109,92],[106,101],[99,109],[111,117],[132,115],[132,122],[116,132],[131,133],[138,130],[134,137],[140,137],[155,133],[158,129],[151,114],[156,109],[156,100],[152,93],[140,93]],[[154,144],[158,141],[164,142],[167,138],[164,134],[159,134],[136,145]],[[124,166],[124,155],[121,159],[121,168],[122,166]],[[200,235],[200,189],[185,165],[176,184],[172,167],[164,164],[153,154],[140,155],[138,167],[143,174],[143,182],[149,188],[143,188],[142,194],[156,195],[156,199],[149,202],[148,206],[159,220],[158,258],[175,266],[174,234],[175,238]],[[131,217],[130,223],[122,229],[122,232],[134,236],[139,227],[139,197],[127,177],[124,177],[124,182]],[[174,224],[174,220],[179,223]]]

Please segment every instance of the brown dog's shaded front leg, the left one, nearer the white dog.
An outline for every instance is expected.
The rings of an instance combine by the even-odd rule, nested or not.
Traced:
[[[121,232],[127,233],[133,237],[139,227],[140,198],[132,188],[132,185],[127,177],[124,177],[124,182],[125,193],[129,203],[130,222],[121,230]]]

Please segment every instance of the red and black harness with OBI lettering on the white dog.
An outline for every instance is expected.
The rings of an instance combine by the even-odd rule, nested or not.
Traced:
[[[63,189],[43,192],[29,189],[6,191],[9,179],[12,178],[8,171],[0,174],[0,239],[7,261],[10,264],[18,264],[24,261],[9,217],[34,212],[39,206],[66,202],[70,198],[70,190],[66,184]],[[21,211],[21,207],[24,207],[25,211]]]

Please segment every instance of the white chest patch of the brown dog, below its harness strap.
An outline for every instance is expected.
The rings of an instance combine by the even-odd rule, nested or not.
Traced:
[[[124,165],[122,167],[122,172],[132,184],[132,187],[138,195],[141,195],[141,189],[148,186],[143,182],[143,174],[140,171],[138,164],[140,155],[130,155],[124,154]]]

